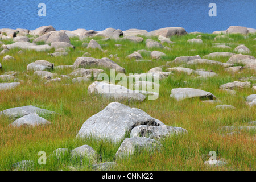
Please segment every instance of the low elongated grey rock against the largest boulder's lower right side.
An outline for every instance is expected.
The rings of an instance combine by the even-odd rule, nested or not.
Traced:
[[[180,130],[181,129],[181,130]],[[175,127],[172,126],[148,126],[148,125],[139,125],[134,127],[131,130],[130,137],[147,137],[150,139],[163,139],[174,134],[187,133],[187,130],[178,128],[175,130]]]

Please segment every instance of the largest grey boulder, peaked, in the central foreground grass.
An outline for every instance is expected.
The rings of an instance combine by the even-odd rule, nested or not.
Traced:
[[[119,142],[138,125],[159,126],[160,123],[141,109],[112,102],[85,121],[76,137],[106,138]]]

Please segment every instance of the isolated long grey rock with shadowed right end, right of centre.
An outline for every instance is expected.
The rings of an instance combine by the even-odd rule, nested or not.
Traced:
[[[193,88],[177,88],[172,89],[170,97],[175,98],[176,100],[184,100],[185,98],[200,98],[203,100],[216,100],[216,97],[204,90],[193,89]]]

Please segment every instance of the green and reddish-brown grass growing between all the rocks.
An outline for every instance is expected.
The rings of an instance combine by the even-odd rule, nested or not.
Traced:
[[[20,86],[12,90],[0,92],[0,110],[34,105],[42,109],[52,110],[61,115],[43,116],[52,123],[49,126],[21,127],[19,129],[10,127],[13,120],[0,118],[0,170],[11,170],[12,164],[21,160],[34,160],[35,165],[31,170],[71,170],[70,166],[78,170],[90,170],[89,167],[94,162],[84,159],[82,163],[71,160],[69,156],[64,156],[58,160],[51,158],[47,160],[47,165],[37,164],[38,152],[45,151],[47,156],[51,155],[57,148],[73,148],[83,144],[88,144],[97,152],[97,163],[111,162],[114,160],[115,152],[120,143],[112,143],[107,140],[96,140],[87,138],[76,140],[75,137],[82,124],[92,115],[104,109],[110,102],[102,97],[90,96],[87,88],[92,82],[72,84],[71,80],[62,79],[61,82],[44,85],[40,77],[33,76],[32,72],[26,73],[29,63],[35,60],[47,60],[57,65],[72,65],[77,57],[89,52],[95,58],[109,57],[110,54],[118,54],[119,60],[112,59],[121,65],[128,73],[145,73],[149,69],[165,65],[167,61],[172,61],[179,56],[203,57],[211,52],[233,52],[236,45],[230,45],[232,49],[212,48],[213,43],[242,43],[250,49],[251,55],[256,57],[255,41],[256,34],[249,34],[248,38],[241,35],[229,35],[234,40],[220,39],[214,42],[217,35],[201,34],[204,44],[187,44],[188,39],[196,38],[197,35],[173,36],[171,51],[165,49],[150,49],[166,53],[166,57],[152,62],[136,62],[125,57],[139,49],[147,49],[145,43],[133,43],[129,40],[98,40],[108,53],[98,49],[93,50],[82,47],[82,41],[72,38],[71,43],[76,47],[70,49],[65,57],[51,57],[45,52],[23,50],[19,55],[19,49],[12,49],[5,55],[13,56],[16,60],[2,61],[5,55],[0,56],[2,69],[0,74],[8,71],[20,72],[16,78],[22,80]],[[146,38],[144,38],[146,40]],[[157,38],[152,38],[157,40]],[[13,43],[12,40],[1,40],[5,44]],[[84,42],[89,42],[90,39]],[[38,43],[43,44],[43,43]],[[115,44],[122,44],[119,49]],[[194,51],[190,51],[194,49]],[[143,59],[150,59],[150,55],[142,55]],[[151,59],[150,59],[151,60]],[[217,57],[217,61],[226,62],[228,58]],[[177,67],[179,64],[170,63],[170,67]],[[256,76],[255,71],[244,69],[240,74],[230,74],[224,71],[219,65],[187,65],[191,69],[204,68],[212,70],[218,74],[216,77],[195,79],[195,74],[185,75],[174,73],[174,75],[159,82],[159,98],[157,100],[146,100],[142,103],[123,101],[122,103],[142,109],[152,117],[159,119],[166,125],[179,126],[188,130],[188,135],[170,137],[161,140],[163,148],[155,151],[154,154],[142,151],[135,154],[130,159],[117,160],[117,170],[255,170],[255,133],[241,131],[240,135],[223,137],[218,128],[222,126],[247,126],[248,122],[256,119],[255,107],[245,104],[245,98],[254,94],[251,88],[236,90],[236,96],[229,95],[219,90],[219,86],[227,82],[238,81],[241,77]],[[89,67],[88,67],[89,68]],[[166,67],[167,68],[167,67]],[[163,71],[166,71],[164,68]],[[106,68],[105,73],[110,74]],[[69,74],[72,69],[53,69],[53,73],[58,75]],[[184,82],[185,81],[185,82]],[[252,81],[256,83],[256,81]],[[69,84],[69,85],[65,85]],[[171,90],[179,87],[190,87],[203,89],[213,93],[222,104],[233,105],[236,110],[214,110],[217,104],[202,103],[197,99],[176,101],[170,97]],[[204,161],[209,159],[209,151],[216,151],[217,158],[224,158],[228,164],[222,167],[204,166]]]

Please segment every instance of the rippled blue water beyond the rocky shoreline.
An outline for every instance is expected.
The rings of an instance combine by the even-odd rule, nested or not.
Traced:
[[[210,17],[209,3],[216,3],[217,16]],[[39,3],[46,4],[46,17],[38,16]],[[56,30],[104,30],[183,27],[187,32],[213,32],[229,26],[256,28],[255,0],[1,0],[0,28],[52,25]]]

